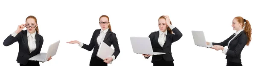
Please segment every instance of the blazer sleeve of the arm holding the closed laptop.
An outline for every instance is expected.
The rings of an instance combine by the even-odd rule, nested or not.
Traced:
[[[119,53],[120,53],[120,49],[118,46],[116,34],[113,34],[112,37],[113,37],[112,45],[115,48],[115,52],[113,53],[113,55],[115,55],[115,59],[116,59],[117,55],[119,55]]]

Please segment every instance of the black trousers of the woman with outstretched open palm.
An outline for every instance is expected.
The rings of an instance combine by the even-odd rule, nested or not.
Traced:
[[[92,57],[90,60],[90,66],[108,66],[107,63],[103,62],[103,60],[99,57]]]

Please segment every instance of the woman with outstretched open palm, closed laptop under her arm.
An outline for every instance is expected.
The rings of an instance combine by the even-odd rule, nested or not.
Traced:
[[[93,54],[92,54],[92,57],[90,60],[90,66],[108,66],[108,63],[111,64],[112,61],[114,59],[116,59],[116,57],[120,53],[116,34],[111,32],[111,26],[110,26],[108,16],[106,16],[106,15],[100,16],[99,25],[101,26],[101,29],[96,29],[93,32],[93,36],[90,40],[89,45],[86,45],[77,40],[67,42],[67,43],[72,43],[72,44],[74,44],[74,43],[79,44],[79,46],[81,48],[84,48],[88,51],[93,50]],[[105,58],[104,60],[102,60],[101,58],[96,56],[101,42],[105,42],[108,46],[113,45],[113,47],[115,48],[114,49],[115,52],[113,53],[113,55],[109,58]]]

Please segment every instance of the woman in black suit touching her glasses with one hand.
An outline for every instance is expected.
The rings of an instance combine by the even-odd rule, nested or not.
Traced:
[[[24,28],[27,30],[22,30]],[[19,42],[17,62],[20,66],[40,66],[38,61],[29,61],[29,58],[40,53],[44,39],[38,32],[38,24],[35,16],[28,16],[26,24],[18,26],[17,30],[9,35],[4,41],[4,46]],[[48,61],[52,59],[49,58]]]

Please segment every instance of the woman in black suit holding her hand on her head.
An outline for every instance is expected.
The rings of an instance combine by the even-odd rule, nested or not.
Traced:
[[[151,63],[153,66],[174,66],[171,46],[182,37],[182,33],[169,19],[169,16],[160,16],[158,18],[159,31],[152,32],[148,37],[151,40],[151,45],[154,52],[163,52],[164,55],[153,55]],[[173,34],[173,33],[174,34]],[[143,54],[146,59],[150,55]]]

